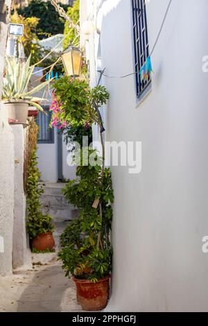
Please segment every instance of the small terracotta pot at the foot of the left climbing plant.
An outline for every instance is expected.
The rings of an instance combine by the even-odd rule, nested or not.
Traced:
[[[54,249],[55,241],[53,239],[53,233],[50,231],[37,234],[37,236],[33,238],[32,247],[38,251]]]

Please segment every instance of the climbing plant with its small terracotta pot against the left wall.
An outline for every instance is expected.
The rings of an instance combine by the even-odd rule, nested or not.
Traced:
[[[27,223],[26,229],[34,250],[53,250],[55,241],[53,239],[54,225],[52,217],[42,214],[40,210],[40,195],[43,193],[39,185],[40,171],[37,168],[36,148],[33,151],[31,162],[28,167],[28,178],[26,185],[27,194]]]

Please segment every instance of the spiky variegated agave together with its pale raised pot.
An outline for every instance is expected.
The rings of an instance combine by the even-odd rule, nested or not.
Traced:
[[[33,105],[43,111],[37,101],[43,98],[35,98],[33,94],[49,85],[51,80],[40,83],[37,87],[28,90],[28,85],[35,66],[30,67],[31,55],[26,62],[20,62],[15,58],[6,57],[6,74],[3,78],[2,99],[8,108],[8,118],[26,123],[28,119],[28,106]]]

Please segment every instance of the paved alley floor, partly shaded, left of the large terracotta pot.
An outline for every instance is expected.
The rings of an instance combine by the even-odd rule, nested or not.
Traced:
[[[64,223],[56,225],[54,235],[57,244],[65,226]],[[64,276],[56,252],[34,254],[33,268],[9,277],[0,277],[0,312],[81,311],[76,300],[76,288]]]

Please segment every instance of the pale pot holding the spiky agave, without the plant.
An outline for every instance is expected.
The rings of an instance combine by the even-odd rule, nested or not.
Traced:
[[[8,119],[26,123],[28,119],[28,103],[24,100],[5,101],[4,105],[8,110]]]

